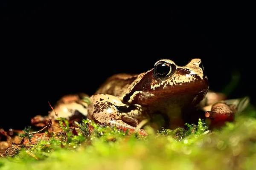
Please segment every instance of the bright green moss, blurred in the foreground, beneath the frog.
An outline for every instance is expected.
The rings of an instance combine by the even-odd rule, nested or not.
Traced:
[[[0,159],[0,169],[251,170],[256,167],[255,113],[250,106],[221,130],[209,131],[201,120],[186,129],[145,127],[146,137],[84,120],[78,135],[69,129],[52,134],[14,158]],[[85,123],[94,127],[90,135]]]

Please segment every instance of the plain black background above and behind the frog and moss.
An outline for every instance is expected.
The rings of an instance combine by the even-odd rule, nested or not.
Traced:
[[[201,58],[214,91],[238,71],[229,97],[248,95],[255,103],[253,13],[241,4],[203,5],[151,1],[143,10],[89,10],[56,0],[3,3],[0,127],[23,129],[30,117],[47,114],[47,101],[91,95],[112,74],[145,72],[163,58],[177,65]]]

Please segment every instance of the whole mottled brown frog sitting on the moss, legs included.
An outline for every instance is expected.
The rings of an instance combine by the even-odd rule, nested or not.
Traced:
[[[233,115],[225,103],[222,103],[223,110],[219,105],[214,105],[218,100],[212,96],[216,95],[209,91],[209,82],[201,59],[191,59],[184,66],[176,65],[171,59],[160,59],[146,72],[122,73],[109,77],[89,97],[90,103],[81,102],[83,97],[76,95],[75,99],[71,97],[65,102],[62,99],[55,108],[59,108],[59,113],[66,112],[64,117],[67,119],[74,117],[70,115],[79,113],[80,117],[85,116],[100,125],[115,126],[123,131],[147,135],[141,128],[140,123],[143,120],[148,120],[148,125],[155,129],[174,129],[184,127],[186,122],[195,123],[198,119],[212,120],[212,115],[218,117],[221,115],[218,113],[224,113],[223,110]],[[226,98],[223,95],[217,96]],[[76,109],[77,104],[82,105],[83,109]],[[71,106],[73,108],[68,108]],[[72,113],[68,114],[68,111]],[[49,112],[49,115],[56,118],[55,111]],[[154,122],[158,118],[158,122],[163,122],[161,125]],[[231,119],[233,120],[233,116],[228,118]],[[35,118],[32,120],[34,123],[38,122]]]

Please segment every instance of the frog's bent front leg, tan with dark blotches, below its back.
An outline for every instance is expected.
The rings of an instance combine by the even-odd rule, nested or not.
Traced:
[[[141,114],[139,106],[125,105],[118,97],[109,94],[96,94],[91,96],[90,100],[88,119],[100,125],[116,126],[123,131],[136,131],[137,117]],[[147,135],[143,129],[139,129],[138,132]]]

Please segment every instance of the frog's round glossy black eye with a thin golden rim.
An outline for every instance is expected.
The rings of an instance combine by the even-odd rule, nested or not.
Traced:
[[[154,74],[157,77],[166,77],[172,72],[172,67],[168,62],[160,61],[154,65]]]

